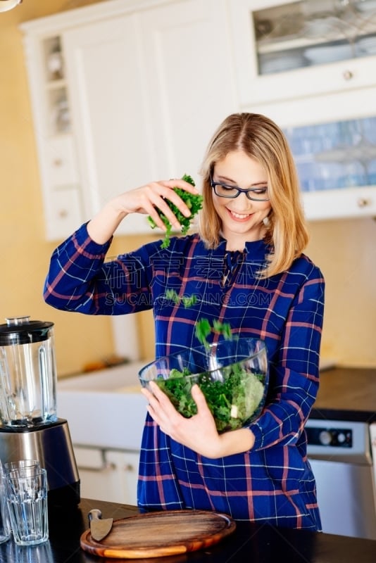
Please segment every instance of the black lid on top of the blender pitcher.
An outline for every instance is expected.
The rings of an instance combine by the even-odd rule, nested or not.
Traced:
[[[6,317],[0,324],[0,346],[30,344],[49,339],[53,322],[30,321],[30,317]]]

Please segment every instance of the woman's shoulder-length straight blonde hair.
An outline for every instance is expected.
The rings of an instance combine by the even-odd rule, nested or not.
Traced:
[[[307,246],[308,230],[292,152],[280,127],[265,115],[233,113],[213,134],[200,171],[203,208],[199,215],[199,234],[208,248],[218,246],[221,223],[213,205],[211,174],[215,163],[231,151],[243,151],[258,160],[267,172],[271,210],[265,222],[265,241],[272,250],[267,268],[259,275],[266,278],[280,274],[288,270]]]

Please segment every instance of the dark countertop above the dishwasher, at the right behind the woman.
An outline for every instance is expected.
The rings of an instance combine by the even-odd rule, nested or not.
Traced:
[[[311,418],[376,422],[376,368],[337,367],[321,372]]]

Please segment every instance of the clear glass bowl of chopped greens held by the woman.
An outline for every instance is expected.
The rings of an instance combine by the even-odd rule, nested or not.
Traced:
[[[268,391],[265,342],[258,339],[221,341],[163,356],[139,371],[142,386],[156,381],[178,412],[197,412],[191,389],[198,384],[219,432],[234,430],[261,415]]]

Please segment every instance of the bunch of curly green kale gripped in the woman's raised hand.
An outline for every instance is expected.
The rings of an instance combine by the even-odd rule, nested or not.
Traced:
[[[187,174],[184,174],[182,179],[185,180],[185,182],[191,184],[192,186],[195,185],[194,179],[192,179],[192,177]],[[180,222],[180,225],[182,226],[182,234],[186,234],[188,232],[189,227],[191,226],[191,222],[192,219],[194,218],[194,215],[196,215],[199,212],[199,210],[202,208],[203,197],[199,194],[189,194],[188,191],[185,191],[184,189],[181,188],[174,188],[174,191],[180,198],[182,198],[185,205],[187,205],[187,207],[191,211],[191,215],[189,215],[189,217],[185,217],[182,214],[182,212],[176,207],[176,205],[172,203],[172,201],[169,201],[168,199],[165,199],[165,201],[168,204],[168,207],[173,211],[177,220]],[[161,220],[163,221],[166,227],[165,237],[163,239],[161,248],[168,248],[168,246],[170,246],[170,236],[173,230],[173,225],[170,223],[168,218],[161,210],[157,210],[157,211],[159,217],[161,217]],[[153,220],[153,218],[149,215],[147,219],[151,228],[155,229],[156,222]]]

